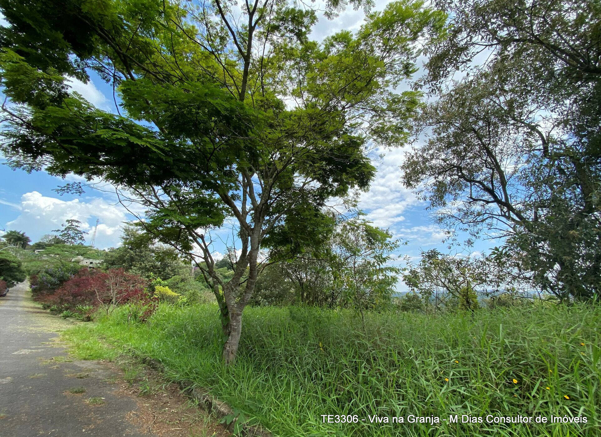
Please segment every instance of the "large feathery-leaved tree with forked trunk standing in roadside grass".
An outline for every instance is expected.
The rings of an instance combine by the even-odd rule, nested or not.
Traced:
[[[393,90],[444,14],[393,2],[355,34],[317,43],[316,11],[276,0],[246,1],[242,21],[222,0],[60,5],[57,19],[43,1],[2,4],[2,85],[17,104],[4,107],[3,150],[14,166],[126,188],[124,202],[148,209],[145,232],[194,258],[211,283],[233,363],[261,248],[293,256],[322,241],[333,226],[326,200],[373,178],[370,141],[404,143],[419,93]],[[64,75],[87,80],[86,68],[115,86],[123,115],[67,92]],[[226,218],[239,248],[227,282],[211,249]]]

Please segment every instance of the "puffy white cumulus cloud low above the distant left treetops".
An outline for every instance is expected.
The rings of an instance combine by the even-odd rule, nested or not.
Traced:
[[[96,219],[99,219],[96,233],[96,246],[106,249],[120,244],[121,225],[130,219],[127,211],[121,205],[112,205],[100,197],[88,199],[62,200],[47,197],[31,191],[21,196],[19,205],[21,214],[12,222],[6,224],[7,229],[25,231],[32,241],[37,241],[53,229],[59,229],[68,219],[82,222],[81,229],[90,232],[86,236],[90,243]]]

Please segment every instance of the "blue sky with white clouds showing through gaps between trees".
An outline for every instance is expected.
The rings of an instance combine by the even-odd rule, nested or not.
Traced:
[[[384,5],[383,1],[376,2],[376,9]],[[335,20],[320,20],[313,38],[321,40],[340,29],[358,29],[364,14],[349,9]],[[71,85],[90,103],[115,112],[112,88],[102,80],[93,77],[87,84],[74,80]],[[382,153],[384,157],[380,158]],[[359,197],[359,208],[367,212],[367,218],[374,225],[389,228],[395,238],[408,242],[407,246],[401,246],[397,254],[399,257],[407,255],[416,260],[421,250],[433,248],[446,253],[447,245],[442,243],[443,230],[429,218],[425,210],[426,203],[419,201],[400,182],[401,171],[398,166],[403,161],[404,153],[404,149],[393,149],[376,150],[371,154],[378,172],[370,190]],[[84,231],[93,230],[98,219],[96,246],[102,249],[118,246],[120,226],[132,220],[132,217],[118,204],[114,194],[88,190],[82,196],[59,196],[52,191],[53,188],[82,179],[69,176],[63,180],[44,172],[28,174],[23,170],[10,169],[4,164],[5,161],[0,155],[0,229],[24,231],[35,242],[44,234],[60,228],[67,219],[82,222]],[[91,234],[87,237],[88,243],[90,237]],[[480,241],[470,251],[483,252],[495,244],[498,243]],[[225,253],[225,246],[221,242],[216,243],[214,248],[218,256]],[[401,285],[400,289],[403,288]]]

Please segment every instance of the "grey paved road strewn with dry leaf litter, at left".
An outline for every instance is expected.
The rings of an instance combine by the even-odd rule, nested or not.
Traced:
[[[67,356],[57,341],[65,324],[31,300],[27,283],[0,298],[0,437],[142,435],[127,420],[136,399],[117,393],[109,367]],[[69,393],[79,386],[85,393]]]

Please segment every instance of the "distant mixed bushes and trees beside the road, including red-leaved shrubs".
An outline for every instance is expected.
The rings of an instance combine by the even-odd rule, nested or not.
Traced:
[[[27,249],[10,247],[10,254],[0,253],[0,280],[5,286],[29,276],[34,299],[44,308],[84,321],[91,321],[98,309],[108,314],[126,303],[135,304],[136,318],[144,319],[159,301],[181,305],[213,301],[203,278],[195,278],[174,250],[153,244],[130,226],[124,228],[122,246],[94,249],[78,244],[83,237],[75,222],[67,220],[67,231],[56,230],[61,234],[44,236]],[[70,244],[64,243],[65,238]],[[84,259],[96,261],[94,268],[82,264]]]

